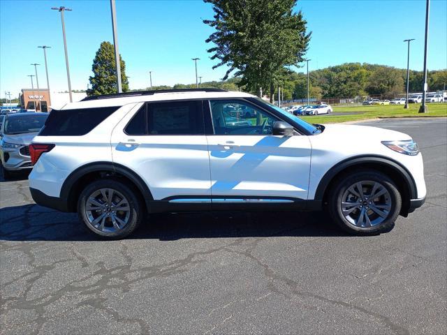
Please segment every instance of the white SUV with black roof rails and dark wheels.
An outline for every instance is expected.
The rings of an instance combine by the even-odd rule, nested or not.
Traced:
[[[36,203],[78,211],[110,239],[133,232],[145,214],[210,210],[328,209],[348,232],[375,234],[426,193],[409,135],[307,124],[218,89],[88,97],[52,110],[30,151]]]

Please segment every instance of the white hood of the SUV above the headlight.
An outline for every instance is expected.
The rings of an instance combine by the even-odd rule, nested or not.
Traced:
[[[358,126],[354,124],[325,124],[323,133],[317,136],[335,137],[337,140],[360,141],[394,141],[411,140],[409,135],[399,131],[376,128],[370,126]]]

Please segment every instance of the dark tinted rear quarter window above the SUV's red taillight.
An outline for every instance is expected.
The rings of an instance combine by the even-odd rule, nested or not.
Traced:
[[[89,133],[119,107],[52,110],[40,136],[80,136]]]

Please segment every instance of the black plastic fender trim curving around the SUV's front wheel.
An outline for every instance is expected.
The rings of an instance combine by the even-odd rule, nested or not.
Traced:
[[[323,196],[326,191],[326,188],[328,188],[328,185],[330,181],[332,181],[332,178],[335,177],[339,172],[342,172],[342,170],[352,167],[354,165],[360,165],[362,163],[376,163],[379,165],[386,165],[388,168],[393,168],[396,172],[398,172],[406,181],[406,185],[409,188],[410,191],[410,199],[416,199],[417,193],[416,193],[416,182],[414,181],[413,177],[411,176],[411,173],[406,170],[406,168],[398,163],[397,161],[393,160],[392,158],[388,158],[385,156],[379,156],[379,155],[362,155],[362,156],[354,156],[350,158],[346,158],[344,161],[341,161],[334,165],[328,172],[325,173],[323,178],[321,178],[321,181],[318,184],[318,187],[316,188],[315,192],[315,200],[321,200],[323,201]]]

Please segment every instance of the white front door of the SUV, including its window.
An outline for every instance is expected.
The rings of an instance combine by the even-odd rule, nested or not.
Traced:
[[[208,103],[213,203],[248,198],[307,199],[311,156],[307,136],[272,135],[278,117],[249,101],[215,99]],[[254,110],[254,118],[228,112],[247,108]]]

